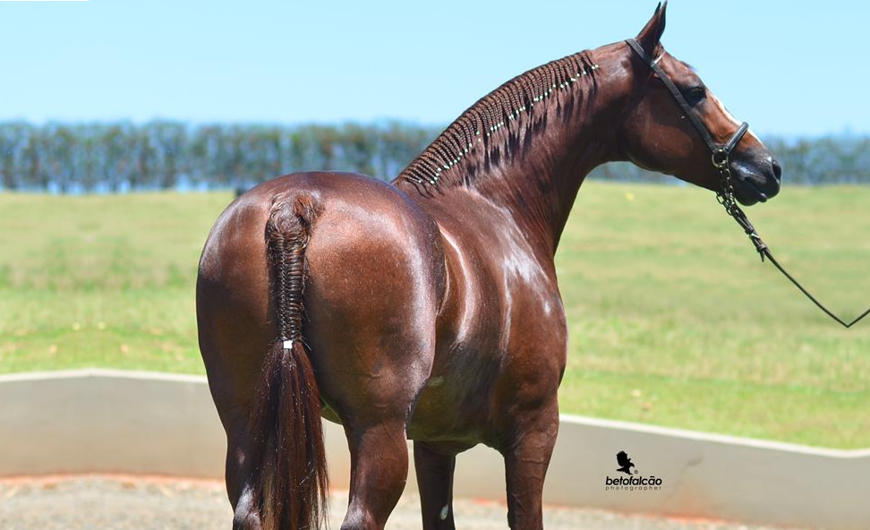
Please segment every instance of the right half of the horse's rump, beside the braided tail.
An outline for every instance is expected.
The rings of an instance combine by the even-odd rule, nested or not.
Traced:
[[[324,199],[307,252],[304,333],[322,396],[345,424],[404,423],[434,357],[437,228],[384,184]]]

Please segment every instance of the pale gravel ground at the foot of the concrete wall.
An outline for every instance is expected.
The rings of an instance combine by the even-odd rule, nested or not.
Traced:
[[[332,497],[331,528],[341,525],[347,494]],[[506,507],[495,502],[457,500],[456,526],[465,530],[507,528]],[[232,513],[221,483],[73,476],[0,481],[3,530],[228,530]],[[545,509],[548,530],[763,530],[650,517],[630,517],[587,509]],[[406,495],[388,530],[420,528],[419,500]]]

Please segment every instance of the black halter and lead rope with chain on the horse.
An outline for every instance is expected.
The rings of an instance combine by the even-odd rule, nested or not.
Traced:
[[[682,109],[683,114],[687,116],[689,122],[695,127],[697,132],[701,135],[701,138],[704,139],[704,142],[710,148],[712,152],[712,165],[715,167],[719,174],[721,175],[721,189],[716,193],[716,200],[722,205],[722,208],[728,213],[731,218],[737,221],[738,225],[746,232],[746,235],[749,236],[749,240],[752,244],[755,245],[755,251],[758,252],[758,255],[761,256],[762,261],[764,258],[767,258],[777,270],[779,270],[783,276],[789,278],[789,281],[797,287],[797,289],[806,295],[807,298],[812,303],[815,303],[815,306],[821,309],[826,315],[831,317],[834,321],[840,323],[843,328],[849,329],[853,325],[855,325],[858,321],[861,321],[870,314],[870,308],[867,308],[865,312],[862,312],[858,315],[855,320],[846,322],[842,320],[839,316],[835,315],[831,310],[824,306],[823,303],[819,302],[814,295],[811,295],[809,291],[804,288],[804,286],[800,285],[800,282],[797,281],[793,276],[789,274],[786,269],[783,269],[780,265],[779,261],[773,257],[770,248],[765,244],[758,232],[755,231],[755,227],[752,226],[752,223],[749,222],[749,218],[746,217],[746,213],[738,206],[737,201],[734,199],[734,186],[731,182],[731,170],[729,168],[729,156],[731,154],[731,150],[734,150],[740,139],[743,138],[743,135],[746,134],[746,131],[749,129],[749,125],[744,122],[738,127],[738,130],[731,135],[731,138],[728,142],[724,144],[719,144],[713,141],[712,135],[707,128],[704,126],[704,123],[701,121],[695,112],[692,110],[692,107],[686,101],[686,98],[683,97],[682,92],[679,91],[677,85],[674,84],[673,81],[670,81],[670,77],[663,70],[659,64],[652,58],[652,56],[648,56],[646,51],[634,38],[629,38],[627,40],[628,46],[631,47],[635,51],[635,53],[644,59],[644,62],[652,69],[653,73],[656,73],[662,82],[664,82],[665,86],[668,87],[670,93],[673,95],[674,99],[677,101],[677,105]]]

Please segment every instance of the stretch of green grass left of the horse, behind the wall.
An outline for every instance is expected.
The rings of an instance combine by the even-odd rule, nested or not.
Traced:
[[[230,200],[0,194],[0,372],[203,373],[196,264]]]

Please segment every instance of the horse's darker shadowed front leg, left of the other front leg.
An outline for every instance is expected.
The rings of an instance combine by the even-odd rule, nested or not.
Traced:
[[[456,455],[439,453],[425,443],[415,441],[414,469],[420,491],[423,530],[455,530],[453,473]]]

